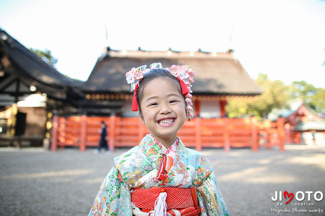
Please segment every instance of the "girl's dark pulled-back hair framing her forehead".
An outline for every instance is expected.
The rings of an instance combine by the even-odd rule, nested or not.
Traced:
[[[137,102],[139,105],[139,113],[141,115],[141,107],[140,102],[143,97],[143,88],[146,86],[147,83],[149,83],[151,80],[154,80],[156,78],[169,78],[172,79],[173,82],[175,82],[175,85],[177,85],[178,90],[182,93],[181,84],[179,83],[179,80],[170,73],[170,71],[163,69],[163,68],[154,68],[151,69],[148,73],[145,73],[143,75],[143,79],[140,82],[138,92],[137,92]],[[181,94],[183,95],[183,94]],[[184,97],[185,98],[185,97]]]

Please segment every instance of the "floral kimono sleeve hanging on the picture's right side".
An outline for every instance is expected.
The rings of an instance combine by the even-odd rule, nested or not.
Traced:
[[[201,208],[200,215],[229,215],[217,186],[213,170],[197,188],[197,192]]]

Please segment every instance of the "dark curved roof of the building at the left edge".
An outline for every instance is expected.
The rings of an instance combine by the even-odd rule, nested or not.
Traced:
[[[0,92],[16,80],[26,86],[35,86],[38,91],[59,100],[78,103],[84,94],[77,89],[82,83],[73,81],[57,71],[37,55],[0,29]],[[23,94],[31,93],[25,90]]]

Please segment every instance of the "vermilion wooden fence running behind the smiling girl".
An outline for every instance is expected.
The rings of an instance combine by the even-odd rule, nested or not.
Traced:
[[[84,151],[87,147],[99,145],[101,122],[107,125],[108,143],[112,151],[115,147],[134,147],[139,144],[145,134],[150,133],[139,118],[122,117],[53,117],[51,150],[57,147],[79,147]],[[279,146],[284,150],[284,121],[265,120],[258,122],[255,117],[229,119],[193,118],[185,122],[178,136],[186,147],[201,151],[202,148],[251,148]]]

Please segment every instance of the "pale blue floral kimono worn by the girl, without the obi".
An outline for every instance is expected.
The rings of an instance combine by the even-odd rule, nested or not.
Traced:
[[[133,190],[161,187],[161,181],[152,181],[157,176],[161,153],[169,159],[166,187],[196,188],[200,215],[229,215],[211,162],[178,140],[167,150],[148,134],[139,146],[114,158],[115,166],[104,179],[89,215],[133,215]]]

